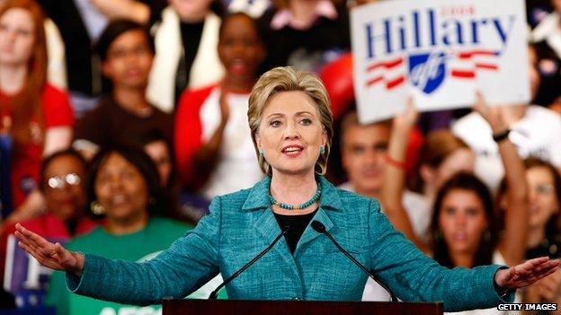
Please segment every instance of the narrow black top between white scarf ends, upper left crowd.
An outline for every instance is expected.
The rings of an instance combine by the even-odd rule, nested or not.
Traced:
[[[181,23],[183,56],[179,60],[179,66],[177,66],[177,74],[175,76],[175,104],[177,104],[183,90],[189,85],[191,66],[199,50],[203,26],[204,20],[198,23]]]

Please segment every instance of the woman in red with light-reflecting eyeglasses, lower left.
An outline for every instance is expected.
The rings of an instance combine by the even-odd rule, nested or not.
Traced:
[[[43,160],[40,168],[40,191],[45,196],[48,211],[37,218],[22,223],[25,227],[38,231],[51,241],[66,243],[76,235],[90,232],[96,225],[94,219],[85,215],[85,173],[87,165],[79,153],[74,150],[59,151],[49,155]],[[0,242],[0,264],[2,274],[6,257],[17,257],[16,251],[22,251],[15,246],[13,238],[14,225],[6,226]],[[11,245],[9,245],[12,243]],[[22,285],[18,283],[18,269],[27,269],[28,265],[39,266],[37,261],[26,261],[22,266],[21,261],[8,261],[6,270],[11,270],[6,279],[10,279],[10,290],[17,296],[22,294]],[[6,271],[7,272],[7,271]],[[16,275],[17,276],[17,275]],[[26,279],[30,283],[40,285],[39,294],[44,294],[47,278]],[[4,279],[4,278],[3,278]],[[34,282],[37,280],[36,282]],[[21,282],[21,281],[20,281]],[[22,294],[23,295],[23,294]],[[26,302],[23,302],[26,304]]]

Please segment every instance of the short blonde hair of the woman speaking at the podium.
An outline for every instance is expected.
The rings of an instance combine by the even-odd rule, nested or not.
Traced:
[[[267,175],[272,175],[271,165],[259,153],[257,148],[256,136],[261,125],[263,110],[274,95],[280,92],[300,91],[305,92],[316,104],[319,120],[324,127],[327,141],[325,152],[319,155],[314,171],[317,174],[325,174],[327,169],[327,158],[331,148],[331,140],[334,135],[333,114],[331,112],[331,101],[325,91],[324,83],[321,82],[316,74],[297,70],[291,66],[279,66],[263,74],[249,96],[249,109],[247,109],[247,119],[251,129],[252,140],[254,141],[255,153],[259,160],[261,171]]]

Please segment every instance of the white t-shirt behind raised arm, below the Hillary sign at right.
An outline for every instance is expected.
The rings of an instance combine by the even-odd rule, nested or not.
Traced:
[[[561,115],[540,106],[530,105],[526,115],[511,126],[509,139],[522,159],[530,156],[561,166]],[[499,147],[493,141],[489,124],[476,112],[460,118],[452,132],[476,153],[475,173],[496,190],[504,170]]]

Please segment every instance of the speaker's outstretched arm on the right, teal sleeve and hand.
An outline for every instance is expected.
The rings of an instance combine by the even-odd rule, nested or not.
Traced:
[[[508,269],[501,266],[474,268],[442,267],[414,247],[389,224],[372,201],[370,228],[370,270],[396,295],[407,302],[444,302],[444,311],[486,309],[513,300],[495,290],[518,289],[555,272],[558,260],[538,258]]]

